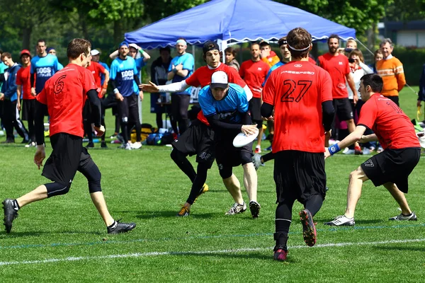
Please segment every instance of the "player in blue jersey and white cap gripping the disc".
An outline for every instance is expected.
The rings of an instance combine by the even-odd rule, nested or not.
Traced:
[[[224,71],[216,71],[211,76],[210,86],[205,86],[199,93],[199,104],[205,117],[215,131],[215,159],[220,176],[227,190],[234,199],[233,206],[227,215],[242,213],[246,204],[242,197],[239,180],[232,173],[234,166],[244,168],[244,185],[249,197],[249,209],[253,218],[260,212],[260,204],[256,200],[257,175],[252,163],[252,142],[236,148],[232,141],[239,132],[246,135],[257,134],[256,125],[251,125],[248,113],[248,99],[244,88],[229,83]]]

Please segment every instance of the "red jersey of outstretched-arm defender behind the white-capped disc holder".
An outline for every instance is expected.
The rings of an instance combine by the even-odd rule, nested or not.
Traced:
[[[204,86],[208,86],[211,83],[211,76],[216,71],[224,71],[227,74],[229,83],[236,83],[242,88],[246,86],[246,83],[241,78],[241,76],[239,76],[239,74],[234,68],[222,63],[220,63],[220,65],[218,65],[218,67],[215,69],[210,69],[210,67],[208,66],[203,66],[199,69],[196,69],[196,71],[191,76],[189,76],[188,79],[186,79],[186,83],[189,86],[201,86],[203,88]],[[206,125],[210,125],[207,121],[207,118],[205,118],[205,116],[203,115],[202,111],[198,112],[198,120],[200,120]]]

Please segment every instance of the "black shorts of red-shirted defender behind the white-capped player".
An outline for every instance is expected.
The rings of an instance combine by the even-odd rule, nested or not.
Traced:
[[[207,163],[211,168],[215,159],[214,131],[200,120],[194,120],[183,134],[171,143],[182,154],[193,156],[196,162]]]

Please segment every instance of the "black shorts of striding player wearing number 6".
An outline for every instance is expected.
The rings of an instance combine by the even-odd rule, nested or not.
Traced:
[[[71,185],[80,166],[91,161],[83,139],[72,134],[58,133],[50,137],[52,154],[45,162],[42,174],[45,178],[63,185]]]

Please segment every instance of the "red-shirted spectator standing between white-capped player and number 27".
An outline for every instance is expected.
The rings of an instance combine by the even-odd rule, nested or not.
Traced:
[[[253,43],[251,45],[251,59],[242,62],[239,75],[244,79],[251,89],[253,98],[249,100],[249,111],[251,112],[252,122],[256,123],[259,129],[255,153],[261,153],[261,137],[263,137],[263,120],[261,118],[261,92],[263,91],[263,81],[266,79],[270,66],[261,61],[260,45]]]

